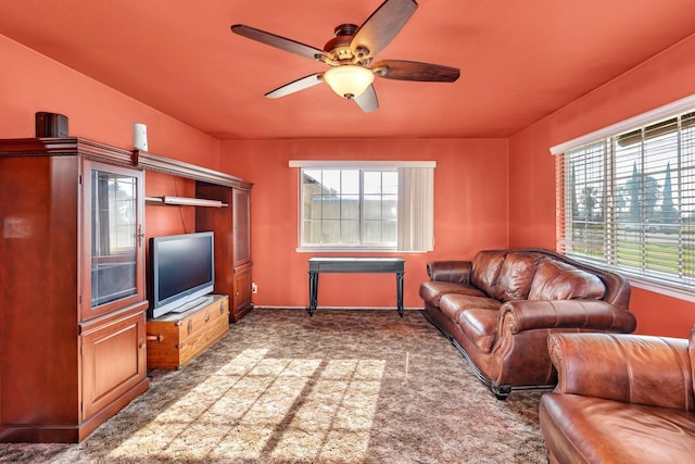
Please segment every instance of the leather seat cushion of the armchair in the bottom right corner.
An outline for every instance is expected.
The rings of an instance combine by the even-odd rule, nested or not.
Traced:
[[[684,463],[695,456],[691,412],[547,393],[540,415],[558,462]]]

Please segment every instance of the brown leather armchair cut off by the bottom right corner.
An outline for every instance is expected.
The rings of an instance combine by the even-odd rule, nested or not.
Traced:
[[[549,336],[559,381],[539,410],[549,462],[695,461],[694,334]]]

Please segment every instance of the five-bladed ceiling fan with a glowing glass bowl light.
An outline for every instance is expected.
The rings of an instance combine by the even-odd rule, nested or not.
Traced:
[[[459,70],[439,64],[404,60],[372,62],[375,55],[388,46],[410,18],[415,0],[386,0],[359,27],[341,24],[334,36],[318,49],[243,24],[235,24],[231,32],[312,60],[328,64],[330,70],[301,77],[267,92],[267,98],[280,98],[326,81],[339,96],[354,100],[368,113],[379,108],[374,89],[374,77],[397,80],[453,83]]]

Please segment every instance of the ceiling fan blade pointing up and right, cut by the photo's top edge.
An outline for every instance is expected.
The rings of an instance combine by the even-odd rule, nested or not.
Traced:
[[[415,10],[415,0],[386,0],[355,33],[350,42],[353,54],[374,58],[393,40]]]

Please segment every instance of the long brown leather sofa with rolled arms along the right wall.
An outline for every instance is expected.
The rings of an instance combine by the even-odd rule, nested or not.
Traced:
[[[484,250],[472,261],[430,262],[427,272],[427,318],[501,400],[555,386],[549,334],[636,326],[627,279],[549,250]]]

